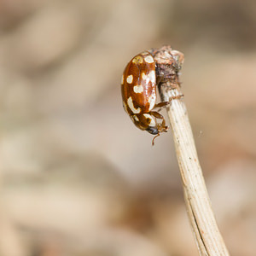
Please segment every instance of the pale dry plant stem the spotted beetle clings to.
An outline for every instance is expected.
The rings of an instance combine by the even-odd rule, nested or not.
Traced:
[[[163,101],[182,95],[177,68],[174,79],[172,76],[160,85],[160,95]],[[167,113],[172,125],[186,207],[199,252],[207,256],[229,255],[212,212],[183,98],[173,99]]]

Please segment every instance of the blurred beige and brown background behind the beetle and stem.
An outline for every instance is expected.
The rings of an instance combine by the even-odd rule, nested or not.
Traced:
[[[198,255],[172,134],[152,147],[120,95],[131,57],[163,44],[185,55],[219,229],[255,255],[253,0],[0,1],[0,255]]]

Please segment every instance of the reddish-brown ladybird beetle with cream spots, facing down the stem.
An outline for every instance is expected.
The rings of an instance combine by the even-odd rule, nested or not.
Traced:
[[[141,130],[160,136],[168,127],[164,117],[154,108],[166,106],[169,102],[156,104],[156,73],[153,55],[148,51],[136,55],[125,67],[121,90],[125,112]],[[158,123],[157,119],[161,122]],[[154,137],[154,138],[155,138]],[[154,139],[152,141],[154,145]]]

